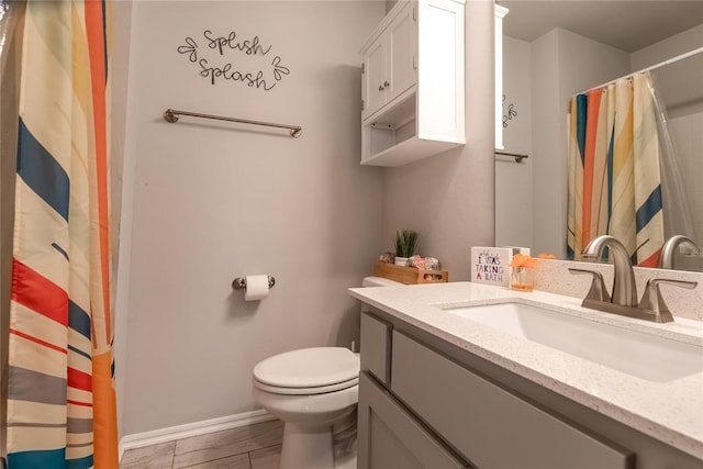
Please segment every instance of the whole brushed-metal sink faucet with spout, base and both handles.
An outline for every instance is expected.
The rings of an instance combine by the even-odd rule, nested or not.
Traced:
[[[605,291],[603,277],[600,272],[584,269],[569,269],[571,273],[591,273],[593,276],[591,289],[581,305],[583,308],[658,323],[672,322],[673,315],[661,297],[659,286],[665,283],[691,290],[698,286],[698,282],[673,279],[650,279],[647,281],[645,293],[638,303],[633,264],[629,260],[627,249],[617,238],[610,235],[598,236],[585,246],[582,258],[584,260],[598,260],[606,248],[615,268],[613,290],[610,297]]]

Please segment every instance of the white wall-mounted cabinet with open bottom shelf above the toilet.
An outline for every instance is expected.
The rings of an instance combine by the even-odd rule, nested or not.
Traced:
[[[464,0],[399,0],[361,48],[361,164],[465,144]]]

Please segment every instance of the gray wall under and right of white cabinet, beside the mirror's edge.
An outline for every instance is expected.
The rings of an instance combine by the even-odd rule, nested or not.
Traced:
[[[466,4],[467,144],[383,174],[383,248],[413,228],[449,280],[470,278],[471,246],[493,245],[493,2]]]

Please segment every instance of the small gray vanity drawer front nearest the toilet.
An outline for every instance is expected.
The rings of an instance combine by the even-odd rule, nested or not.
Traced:
[[[361,313],[361,370],[370,371],[383,384],[391,378],[391,331],[392,325]]]

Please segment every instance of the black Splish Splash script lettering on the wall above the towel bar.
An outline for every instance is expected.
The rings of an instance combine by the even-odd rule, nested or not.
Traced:
[[[290,74],[271,48],[259,36],[241,38],[235,31],[217,35],[205,30],[196,38],[186,37],[178,53],[196,64],[200,76],[213,86],[228,82],[270,91]]]

